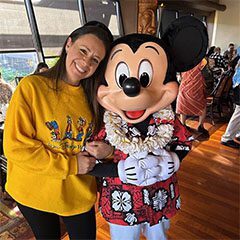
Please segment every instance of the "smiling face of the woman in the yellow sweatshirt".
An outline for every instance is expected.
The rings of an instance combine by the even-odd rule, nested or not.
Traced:
[[[69,38],[66,52],[66,82],[76,86],[96,71],[106,54],[102,40],[93,34],[83,35],[75,42]]]

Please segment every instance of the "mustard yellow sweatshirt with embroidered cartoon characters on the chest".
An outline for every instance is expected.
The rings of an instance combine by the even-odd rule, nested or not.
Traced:
[[[19,203],[70,216],[96,200],[95,178],[77,175],[76,153],[92,132],[92,115],[81,87],[28,76],[16,88],[4,125],[8,193]]]

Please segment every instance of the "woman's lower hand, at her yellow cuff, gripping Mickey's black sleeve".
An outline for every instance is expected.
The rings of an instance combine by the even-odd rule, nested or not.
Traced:
[[[86,174],[91,171],[95,164],[96,159],[89,155],[88,152],[83,151],[77,154],[78,160],[78,174]]]

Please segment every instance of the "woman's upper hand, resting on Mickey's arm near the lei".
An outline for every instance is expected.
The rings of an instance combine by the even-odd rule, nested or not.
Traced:
[[[104,159],[113,153],[113,147],[103,141],[86,143],[86,151],[96,159]]]

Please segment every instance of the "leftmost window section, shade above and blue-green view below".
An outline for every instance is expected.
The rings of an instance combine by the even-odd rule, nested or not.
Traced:
[[[0,0],[0,72],[15,86],[15,77],[26,76],[37,65],[24,1]]]

